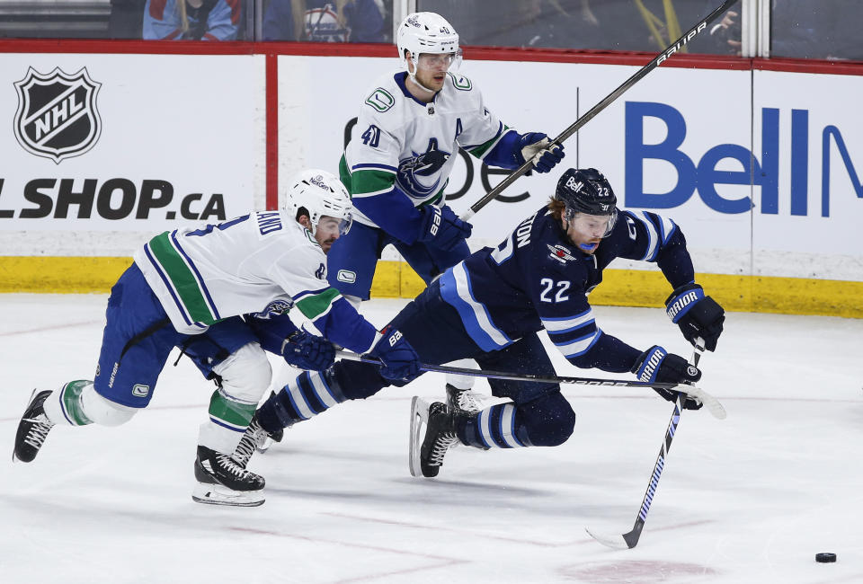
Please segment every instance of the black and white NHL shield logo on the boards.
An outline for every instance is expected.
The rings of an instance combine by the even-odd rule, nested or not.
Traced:
[[[102,133],[96,109],[102,84],[90,78],[86,67],[75,75],[59,67],[42,75],[30,67],[14,85],[18,92],[15,137],[24,150],[59,164],[95,146]]]

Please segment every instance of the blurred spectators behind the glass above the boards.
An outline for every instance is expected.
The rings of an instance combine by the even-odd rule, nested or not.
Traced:
[[[770,56],[863,60],[848,28],[860,0],[770,4]],[[394,0],[0,0],[0,37],[279,40],[390,43]],[[401,3],[400,3],[401,4]],[[720,0],[416,0],[440,13],[461,44],[655,52]],[[691,53],[740,55],[742,3],[699,35]],[[396,14],[396,17],[398,14]],[[469,56],[468,56],[469,57]]]

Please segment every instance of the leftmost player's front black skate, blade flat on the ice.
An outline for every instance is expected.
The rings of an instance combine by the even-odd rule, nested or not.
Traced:
[[[236,507],[263,504],[263,477],[245,470],[231,456],[208,447],[198,447],[195,479],[198,485],[191,499],[196,502]]]

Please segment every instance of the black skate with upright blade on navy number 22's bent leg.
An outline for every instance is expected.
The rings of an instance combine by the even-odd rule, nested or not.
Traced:
[[[425,434],[423,436],[423,424]],[[410,466],[414,476],[437,476],[456,436],[455,415],[446,404],[429,405],[417,396],[411,402]]]

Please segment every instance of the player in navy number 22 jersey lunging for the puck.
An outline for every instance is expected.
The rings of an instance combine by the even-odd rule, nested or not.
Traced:
[[[695,382],[700,371],[685,358],[654,345],[646,350],[601,330],[588,294],[615,258],[655,262],[674,288],[665,302],[672,322],[692,342],[716,350],[725,314],[694,281],[686,240],[673,221],[654,213],[618,211],[609,181],[594,169],[567,170],[547,207],[522,221],[496,248],[484,248],[447,270],[396,315],[401,331],[425,363],[474,358],[480,367],[555,376],[538,332],[576,367],[632,372],[648,382]],[[346,400],[376,394],[387,385],[375,366],[341,360],[324,372],[307,372],[262,405],[240,442],[247,462],[254,443],[308,420]],[[412,424],[426,421],[411,471],[435,476],[448,448],[460,442],[479,448],[551,447],[574,428],[575,413],[560,386],[489,379],[492,393],[509,398],[479,412],[421,406]],[[676,393],[656,390],[673,401]],[[687,398],[683,406],[701,404]],[[418,429],[419,436],[421,429]],[[412,429],[412,434],[414,433]],[[422,444],[422,447],[419,445]]]

